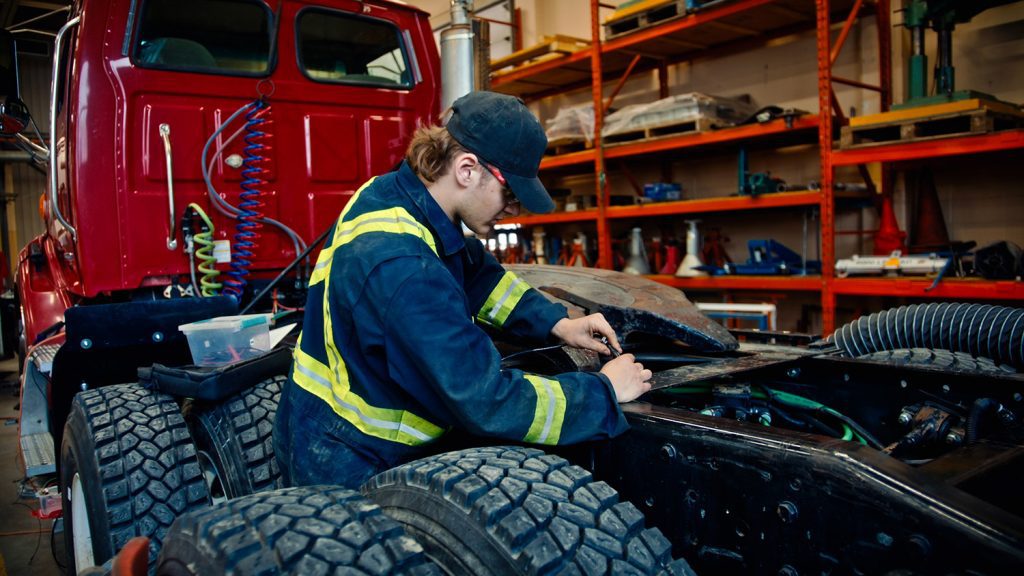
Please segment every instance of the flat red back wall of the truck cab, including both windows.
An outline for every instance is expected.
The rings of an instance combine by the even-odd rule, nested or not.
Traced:
[[[208,183],[236,207],[248,199],[243,183],[258,190],[251,209],[302,240],[263,225],[250,247],[250,273],[286,265],[364,181],[401,159],[417,124],[436,115],[433,71],[418,64],[436,60],[436,49],[422,41],[424,16],[341,0],[138,2],[126,23],[127,58],[114,58],[110,70],[119,106],[114,135],[123,148],[116,202],[123,274],[120,286],[108,282],[106,289],[188,274],[174,222],[190,203],[209,213],[215,239],[238,261],[238,220],[217,210]],[[231,119],[259,99],[267,111]],[[253,154],[262,158],[255,182],[243,173]]]

